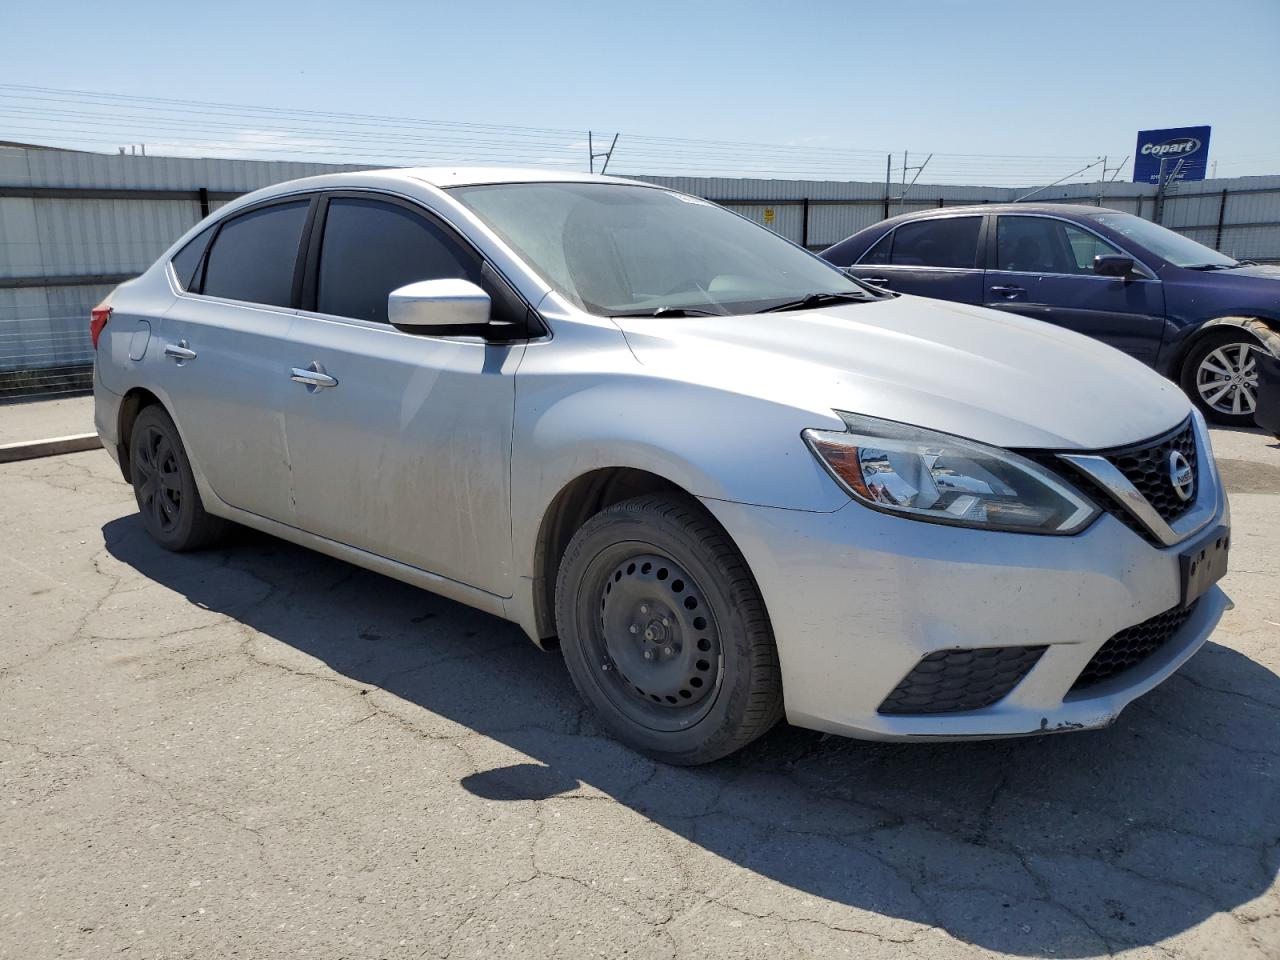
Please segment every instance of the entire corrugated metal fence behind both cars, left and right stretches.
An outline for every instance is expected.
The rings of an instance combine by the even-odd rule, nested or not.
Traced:
[[[84,389],[88,311],[209,211],[259,187],[348,169],[357,168],[0,147],[0,401]],[[884,216],[1025,192],[916,184],[902,202],[901,187],[886,197],[883,183],[637,179],[714,200],[814,250]],[[1155,187],[1134,183],[1055,187],[1036,200],[1157,212]],[[1160,220],[1231,256],[1280,261],[1280,177],[1178,184]]]

